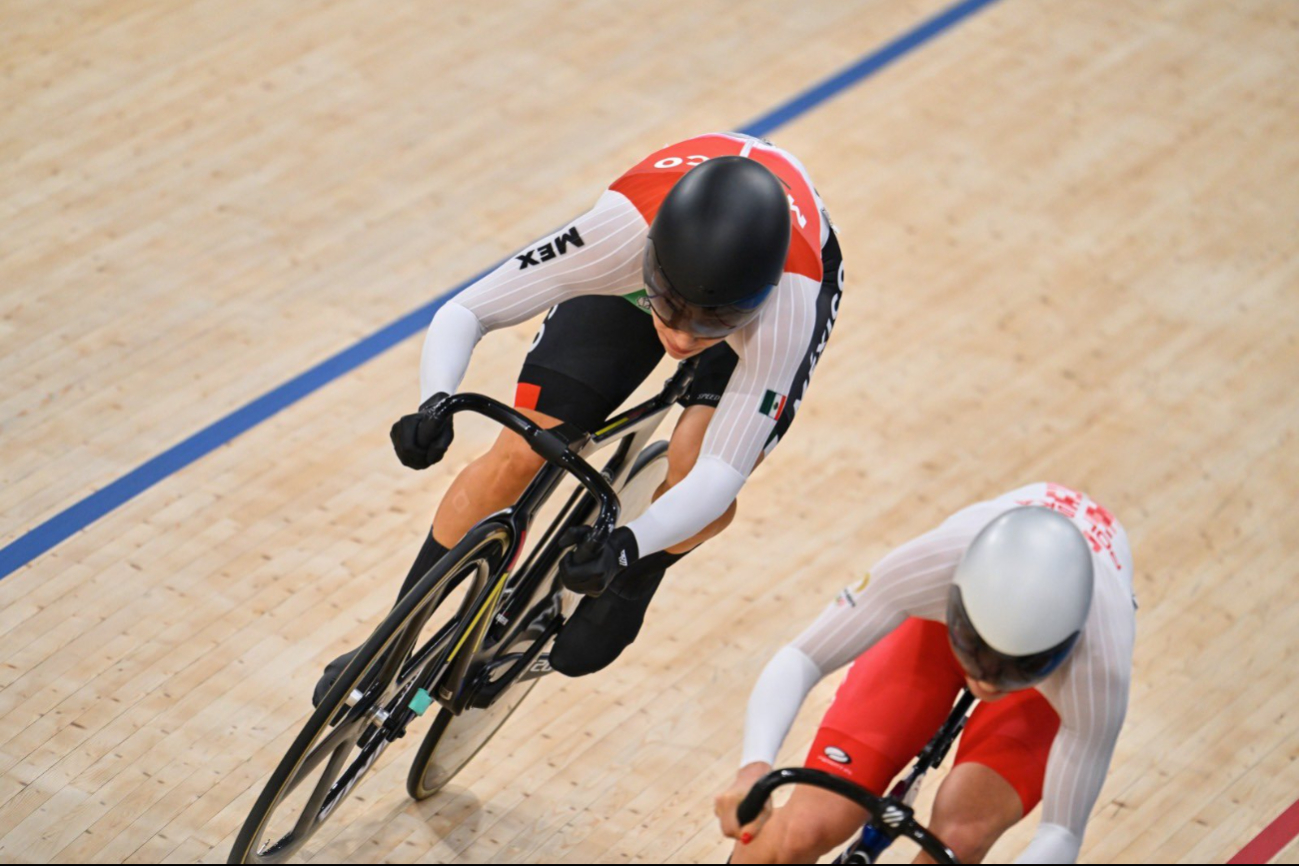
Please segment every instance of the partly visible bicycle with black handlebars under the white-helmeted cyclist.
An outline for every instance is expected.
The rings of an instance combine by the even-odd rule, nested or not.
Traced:
[[[861,786],[842,776],[822,770],[807,767],[785,767],[772,770],[753,783],[735,809],[740,827],[755,821],[766,806],[772,792],[786,784],[809,784],[847,797],[870,814],[861,827],[861,834],[834,860],[835,863],[876,863],[879,856],[899,836],[911,839],[938,863],[957,863],[956,854],[943,841],[916,821],[912,804],[920,792],[925,774],[937,767],[947,757],[952,744],[965,728],[965,719],[974,705],[974,696],[963,689],[947,721],[916,756],[916,763],[905,778],[899,779],[887,797],[877,797]]]

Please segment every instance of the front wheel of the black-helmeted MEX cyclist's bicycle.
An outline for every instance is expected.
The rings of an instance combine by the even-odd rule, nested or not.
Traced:
[[[377,719],[372,710],[379,706],[381,699],[399,678],[408,652],[418,640],[420,630],[470,567],[492,556],[499,560],[508,547],[509,531],[504,526],[474,527],[421,578],[412,592],[394,606],[357,650],[352,662],[339,674],[271,773],[235,837],[227,862],[284,862],[333,817],[391,743],[381,734],[382,721]],[[470,601],[472,599],[466,597],[464,604]],[[379,667],[377,675],[372,678],[375,665]],[[357,689],[362,697],[349,706],[348,701]],[[395,697],[396,695],[392,695],[386,700]],[[366,744],[360,747],[362,739]],[[330,744],[327,753],[326,744]],[[346,756],[357,748],[361,749],[361,754],[344,767]],[[360,763],[362,761],[364,765]],[[316,767],[326,762],[325,775],[314,783],[316,788],[301,814],[295,817],[294,830],[266,847],[256,848],[266,823],[281,802],[305,782]],[[353,775],[343,789],[335,791],[344,773]],[[308,813],[313,810],[316,815],[308,821]]]

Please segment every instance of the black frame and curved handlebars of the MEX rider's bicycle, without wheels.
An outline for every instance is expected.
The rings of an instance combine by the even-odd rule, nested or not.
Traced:
[[[472,613],[448,623],[455,632],[449,636],[451,650],[446,663],[430,666],[426,673],[435,675],[435,682],[420,682],[414,684],[416,688],[425,688],[439,704],[459,714],[470,705],[488,706],[511,683],[522,679],[529,669],[536,665],[547,640],[562,625],[559,617],[522,652],[511,653],[504,658],[498,658],[498,653],[501,648],[509,647],[531,622],[531,617],[526,614],[538,604],[548,602],[551,599],[552,593],[547,592],[540,601],[538,600],[542,595],[539,591],[549,588],[544,586],[546,580],[553,574],[560,557],[568,549],[557,544],[559,536],[568,527],[588,521],[596,509],[594,538],[603,540],[613,531],[620,509],[614,491],[626,480],[635,457],[655,435],[662,417],[686,393],[694,379],[695,366],[694,358],[683,361],[656,396],[616,415],[594,435],[569,438],[561,432],[562,426],[549,431],[543,430],[518,412],[481,395],[455,395],[439,406],[439,410],[448,415],[457,412],[487,415],[523,436],[547,462],[514,505],[482,521],[481,525],[495,523],[505,530],[509,541],[501,558],[507,565],[499,571],[478,569],[469,578],[473,582],[468,596],[472,602],[462,610]],[[613,444],[617,444],[617,449],[603,471],[595,470],[587,462],[588,458]],[[511,575],[516,574],[516,561],[522,552],[533,519],[568,475],[577,478],[579,487],[518,570],[518,578],[507,597],[507,583],[511,582]],[[491,576],[494,571],[495,578]],[[442,643],[443,637],[444,635],[439,632],[427,645],[447,645]],[[407,670],[426,661],[427,656],[421,654],[408,663]],[[503,666],[507,667],[504,674],[491,676]],[[434,670],[439,667],[440,673]],[[534,673],[540,675],[547,670],[548,667]]]

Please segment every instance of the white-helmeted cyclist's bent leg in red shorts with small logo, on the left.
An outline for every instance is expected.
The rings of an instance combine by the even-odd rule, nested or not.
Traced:
[[[894,776],[947,718],[964,683],[960,665],[947,645],[947,626],[927,619],[904,621],[852,663],[821,719],[805,765],[872,793],[886,793]],[[798,862],[785,858],[820,857],[847,841],[865,821],[865,813],[852,806],[859,819],[844,827],[843,813],[833,810],[824,798],[851,804],[829,792],[816,792],[821,798],[812,801],[804,796],[800,802],[809,808],[786,817],[801,793],[795,791],[752,843],[735,847],[735,862]],[[825,819],[818,809],[825,811]],[[763,841],[769,830],[776,832]]]

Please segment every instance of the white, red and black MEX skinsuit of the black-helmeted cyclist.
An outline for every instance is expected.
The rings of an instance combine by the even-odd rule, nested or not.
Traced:
[[[659,205],[691,167],[743,156],[772,170],[790,200],[786,270],[759,317],[703,353],[687,404],[716,406],[687,476],[629,523],[642,556],[721,517],[801,401],[842,293],[839,245],[801,164],[761,139],[712,134],[657,151],[614,180],[586,214],[512,256],[448,301],[429,326],[422,399],[452,393],[474,345],[553,308],[534,340],[516,404],[590,430],[662,356],[640,308],[644,241]]]

